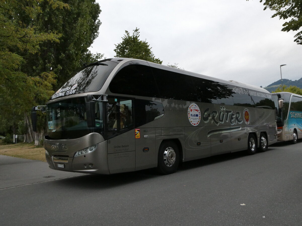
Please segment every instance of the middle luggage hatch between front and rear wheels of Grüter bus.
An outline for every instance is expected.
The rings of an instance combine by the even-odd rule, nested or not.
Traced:
[[[211,155],[229,153],[233,149],[230,126],[210,126],[207,136],[211,138]]]

